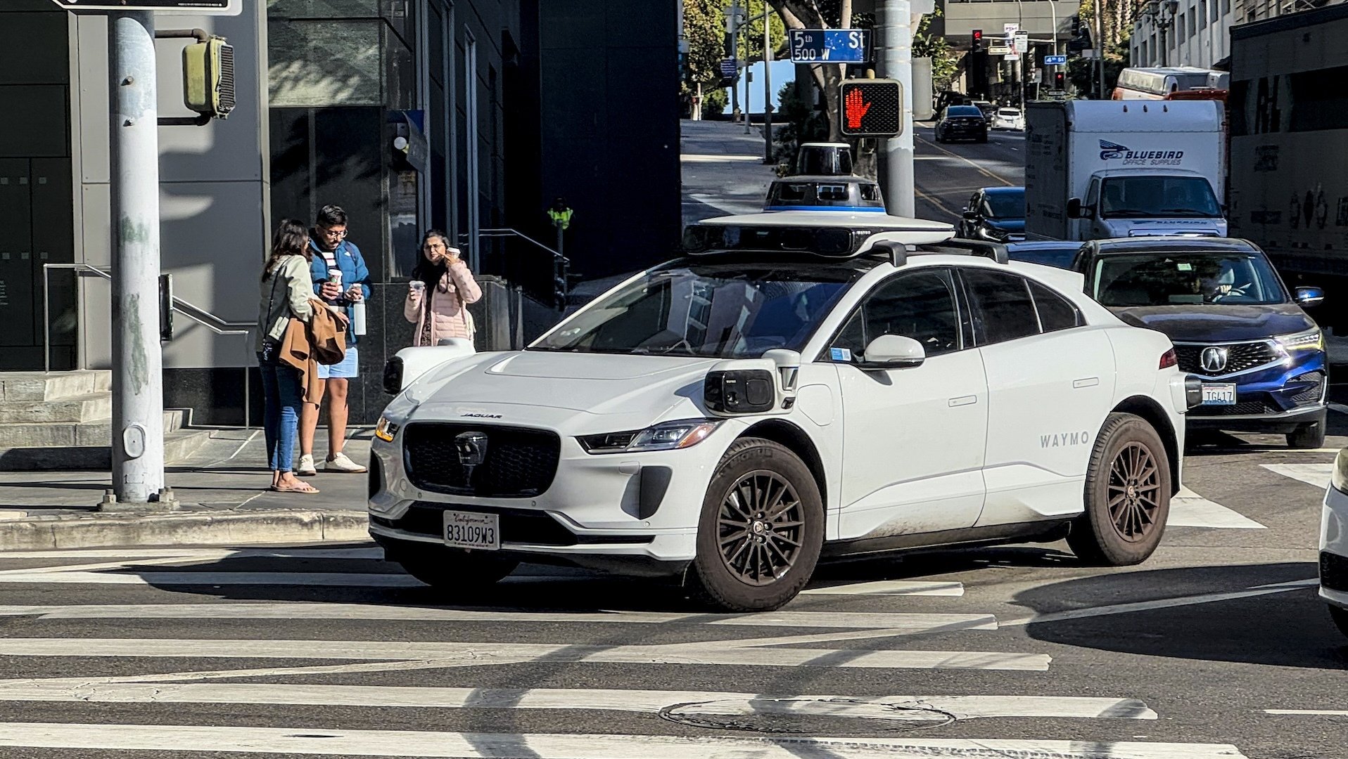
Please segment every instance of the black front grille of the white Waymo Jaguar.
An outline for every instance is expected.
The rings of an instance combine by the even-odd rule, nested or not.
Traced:
[[[487,436],[483,463],[460,460],[454,439]],[[562,441],[555,432],[489,424],[408,424],[403,431],[407,479],[422,490],[480,498],[532,498],[553,484]]]

